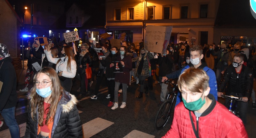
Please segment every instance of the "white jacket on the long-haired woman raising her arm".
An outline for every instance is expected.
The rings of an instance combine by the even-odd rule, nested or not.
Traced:
[[[51,56],[51,51],[46,52],[46,56],[49,62],[52,62],[56,64],[58,60],[60,59],[60,62],[56,64],[56,73],[62,71],[62,76],[67,78],[74,78],[76,76],[76,61],[74,59],[71,59],[71,71],[67,69],[68,66],[68,58],[64,61],[65,57],[62,58],[53,58]]]

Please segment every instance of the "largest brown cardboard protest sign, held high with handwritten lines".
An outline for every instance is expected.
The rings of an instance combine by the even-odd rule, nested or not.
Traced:
[[[147,25],[145,48],[150,52],[162,53],[167,48],[171,37],[172,26]]]

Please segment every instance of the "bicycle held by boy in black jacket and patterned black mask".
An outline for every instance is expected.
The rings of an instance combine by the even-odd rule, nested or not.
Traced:
[[[229,100],[229,111],[239,117],[239,112],[237,109],[237,102],[242,101],[242,97],[234,97],[234,96],[228,96],[228,95],[221,95],[222,98],[228,99]],[[243,102],[243,101],[242,101]]]

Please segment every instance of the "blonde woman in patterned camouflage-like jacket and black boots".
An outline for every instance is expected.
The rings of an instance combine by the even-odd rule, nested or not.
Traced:
[[[136,58],[132,59],[132,62],[137,62],[136,68],[135,68],[135,76],[138,76],[139,78],[139,84],[140,84],[140,92],[137,98],[143,97],[143,90],[144,90],[144,82],[147,77],[149,77],[149,63],[150,59],[153,59],[154,56],[148,52],[145,48],[141,48],[140,55]],[[148,87],[146,88],[146,94],[148,93]]]

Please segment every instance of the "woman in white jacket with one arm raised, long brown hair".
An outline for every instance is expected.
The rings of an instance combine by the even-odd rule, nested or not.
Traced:
[[[60,58],[53,58],[50,48],[47,49],[46,56],[49,62],[56,64],[56,73],[59,76],[61,86],[68,92],[73,85],[72,78],[76,76],[76,61],[70,47],[63,47]]]

